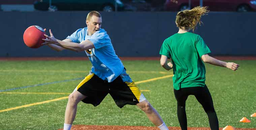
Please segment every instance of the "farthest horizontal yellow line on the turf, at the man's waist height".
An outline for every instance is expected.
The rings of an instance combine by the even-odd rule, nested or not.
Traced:
[[[88,73],[89,70],[0,70],[0,72],[68,72],[68,73]],[[169,74],[165,71],[127,71],[127,73],[160,73]]]

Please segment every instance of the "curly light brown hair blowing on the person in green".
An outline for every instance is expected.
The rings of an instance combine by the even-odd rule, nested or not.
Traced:
[[[175,22],[177,27],[184,28],[186,30],[193,29],[194,31],[197,23],[199,23],[199,25],[202,23],[202,21],[200,21],[201,16],[206,15],[208,12],[209,10],[207,10],[206,6],[197,6],[190,10],[180,11],[176,16]]]

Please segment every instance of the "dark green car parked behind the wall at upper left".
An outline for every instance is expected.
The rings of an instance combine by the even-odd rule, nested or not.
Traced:
[[[37,0],[34,3],[34,8],[37,10],[97,10],[111,12],[115,10],[123,10],[124,4],[120,0]]]

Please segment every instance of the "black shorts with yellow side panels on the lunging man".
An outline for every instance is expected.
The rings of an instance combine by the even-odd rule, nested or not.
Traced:
[[[90,74],[77,85],[75,90],[87,96],[82,102],[95,107],[108,93],[119,108],[127,104],[136,105],[146,100],[134,81],[124,82],[121,76],[118,76],[113,82],[107,82],[95,74]]]

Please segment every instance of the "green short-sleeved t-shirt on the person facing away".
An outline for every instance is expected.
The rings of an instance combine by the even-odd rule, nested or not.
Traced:
[[[177,33],[164,40],[160,55],[171,58],[174,89],[205,86],[205,66],[201,56],[208,53],[211,53],[210,49],[197,34]]]

